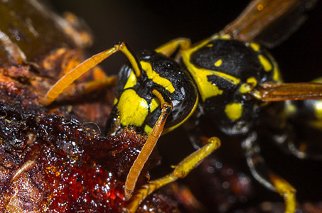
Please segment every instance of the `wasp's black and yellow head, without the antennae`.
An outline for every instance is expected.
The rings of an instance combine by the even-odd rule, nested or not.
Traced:
[[[176,128],[198,104],[198,92],[188,71],[154,51],[142,51],[137,61],[141,77],[127,65],[119,72],[115,107],[107,124],[119,119],[122,126],[134,126],[136,131],[149,135],[161,113],[160,102],[152,94],[156,89],[173,104],[165,131]]]

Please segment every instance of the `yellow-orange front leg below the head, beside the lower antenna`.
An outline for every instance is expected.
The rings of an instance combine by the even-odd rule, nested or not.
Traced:
[[[202,148],[184,158],[172,173],[163,178],[153,180],[146,185],[143,185],[140,190],[137,190],[132,197],[132,202],[127,206],[128,212],[136,212],[139,204],[152,192],[158,190],[163,185],[177,180],[178,178],[185,178],[191,170],[199,165],[199,163],[206,158],[210,153],[213,153],[220,147],[220,139],[213,137],[208,138],[207,143]]]

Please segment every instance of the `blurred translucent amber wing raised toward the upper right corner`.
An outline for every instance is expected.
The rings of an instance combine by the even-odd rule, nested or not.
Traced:
[[[236,40],[257,40],[273,48],[289,38],[306,20],[317,0],[253,0],[220,33]]]

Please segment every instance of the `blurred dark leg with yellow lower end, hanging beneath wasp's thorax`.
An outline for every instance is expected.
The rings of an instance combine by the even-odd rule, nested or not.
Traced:
[[[260,148],[257,145],[256,140],[257,134],[253,132],[250,133],[242,143],[242,146],[246,150],[247,164],[252,175],[269,190],[278,192],[281,197],[284,197],[286,213],[295,212],[296,190],[289,182],[286,182],[283,178],[275,175],[267,168],[264,158],[260,155]]]

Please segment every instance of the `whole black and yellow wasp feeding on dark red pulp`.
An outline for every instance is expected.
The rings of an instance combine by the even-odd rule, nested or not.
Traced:
[[[161,134],[186,123],[194,114],[201,114],[209,116],[223,133],[244,136],[242,146],[254,178],[284,197],[285,212],[294,212],[296,190],[267,168],[260,154],[257,130],[268,125],[282,131],[286,119],[296,114],[291,110],[296,108],[293,102],[321,99],[322,84],[284,83],[277,62],[254,40],[285,13],[299,15],[300,22],[301,14],[296,9],[303,6],[308,7],[306,1],[254,0],[222,31],[194,44],[188,38],[177,38],[155,50],[135,54],[127,43],[119,43],[61,77],[43,97],[43,104],[51,104],[80,75],[110,55],[122,52],[129,64],[119,71],[107,132],[114,134],[131,126],[147,136],[125,182],[127,199],[132,197],[141,170]],[[267,44],[277,43],[270,40]],[[87,87],[90,90],[106,82],[111,80],[89,82]],[[313,110],[321,110],[315,102],[310,103]],[[220,146],[216,137],[203,141],[205,146],[176,165],[173,173],[137,190],[129,212],[135,212],[141,200],[154,190],[184,178]],[[296,146],[293,151],[308,153]]]

